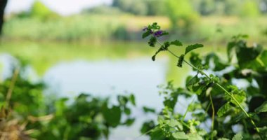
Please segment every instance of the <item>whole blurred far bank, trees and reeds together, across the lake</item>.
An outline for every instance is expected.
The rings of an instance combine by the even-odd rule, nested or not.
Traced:
[[[183,41],[192,41],[196,36],[209,38],[216,30],[222,32],[220,41],[236,31],[261,39],[267,32],[265,15],[260,16],[267,13],[266,3],[267,0],[114,0],[109,6],[61,17],[41,1],[35,1],[30,10],[8,16],[3,36],[56,41],[88,38],[138,41],[143,25],[157,21]],[[212,15],[223,16],[219,22]]]

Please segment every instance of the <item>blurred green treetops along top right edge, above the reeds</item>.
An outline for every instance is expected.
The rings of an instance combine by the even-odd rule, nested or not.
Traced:
[[[133,15],[165,15],[169,10],[166,3],[172,1],[187,1],[200,15],[252,16],[267,13],[267,0],[113,0],[112,8]],[[87,11],[101,11],[100,8],[104,7]]]

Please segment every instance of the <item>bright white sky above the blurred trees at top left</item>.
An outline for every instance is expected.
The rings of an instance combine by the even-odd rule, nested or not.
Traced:
[[[48,8],[60,15],[72,15],[79,13],[84,8],[110,4],[112,0],[40,0]],[[34,0],[8,0],[6,13],[18,13],[22,10],[29,10]]]

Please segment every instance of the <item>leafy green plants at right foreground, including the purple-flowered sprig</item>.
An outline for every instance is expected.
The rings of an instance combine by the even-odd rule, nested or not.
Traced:
[[[157,23],[143,31],[143,38],[150,36],[148,45],[159,45],[153,61],[159,52],[166,51],[176,57],[178,67],[188,65],[196,73],[188,76],[184,88],[175,88],[171,82],[162,87],[159,93],[164,96],[165,107],[155,113],[157,123],[149,120],[143,124],[143,134],[150,139],[267,139],[267,50],[261,45],[247,46],[247,36],[237,35],[228,43],[228,60],[214,52],[204,56],[192,52],[187,61],[185,55],[202,44],[188,45],[185,52],[176,55],[171,46],[183,44],[159,41],[168,32]],[[236,81],[246,86],[237,87]],[[179,97],[192,100],[185,113],[177,111]]]

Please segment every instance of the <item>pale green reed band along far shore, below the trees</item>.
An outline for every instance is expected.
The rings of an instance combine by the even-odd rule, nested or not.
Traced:
[[[157,21],[162,29],[170,30],[171,23],[167,17],[147,17],[136,15],[72,15],[50,20],[38,18],[12,17],[4,24],[2,40],[7,41],[54,41],[54,42],[91,42],[100,40],[141,41],[143,25]],[[266,42],[266,16],[250,20],[249,18],[202,17],[193,27],[192,33],[185,36],[175,34],[185,42],[214,41],[226,43],[233,34],[249,34],[251,41]],[[254,30],[258,27],[259,30]]]

